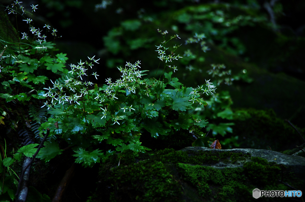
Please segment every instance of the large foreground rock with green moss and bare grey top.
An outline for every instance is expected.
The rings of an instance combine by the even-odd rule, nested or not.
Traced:
[[[97,189],[88,202],[252,201],[256,188],[291,190],[289,184],[302,190],[304,169],[305,158],[270,150],[187,147],[139,154],[127,150],[101,165]]]

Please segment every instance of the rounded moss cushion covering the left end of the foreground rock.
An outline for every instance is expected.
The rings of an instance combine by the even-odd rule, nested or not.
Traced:
[[[180,201],[181,186],[160,161],[119,166],[111,175],[101,170],[100,176],[111,182],[109,201]]]

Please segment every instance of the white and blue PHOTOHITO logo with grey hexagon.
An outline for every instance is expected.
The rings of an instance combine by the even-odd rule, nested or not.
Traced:
[[[289,190],[289,191],[283,191],[283,190],[259,190],[259,189],[253,189],[253,197],[259,198],[259,197],[301,197],[302,192],[300,190]]]

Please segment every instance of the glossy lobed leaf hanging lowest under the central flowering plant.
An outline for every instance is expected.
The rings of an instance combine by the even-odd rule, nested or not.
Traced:
[[[79,149],[79,151],[75,151],[76,154],[72,155],[77,157],[75,160],[76,163],[82,163],[82,165],[86,168],[87,166],[92,167],[95,163],[99,163],[101,157],[104,157],[104,153],[100,153],[99,149],[94,150],[92,152],[85,151],[83,149]]]

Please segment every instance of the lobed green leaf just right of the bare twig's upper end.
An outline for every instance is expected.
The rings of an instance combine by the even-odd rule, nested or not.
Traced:
[[[56,155],[61,154],[63,150],[59,149],[58,144],[51,139],[50,142],[45,142],[45,147],[41,148],[37,158],[44,159],[45,162],[50,161],[52,158],[56,157]]]

